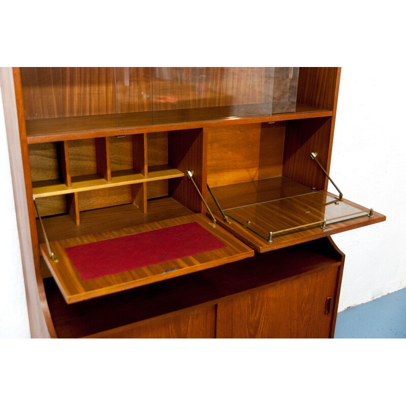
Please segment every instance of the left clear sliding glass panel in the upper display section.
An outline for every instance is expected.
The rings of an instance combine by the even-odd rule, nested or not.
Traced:
[[[269,116],[274,70],[117,67],[118,126]]]

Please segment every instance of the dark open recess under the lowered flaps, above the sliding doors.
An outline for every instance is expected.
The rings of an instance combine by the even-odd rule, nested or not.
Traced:
[[[265,285],[277,286],[341,267],[342,261],[343,255],[324,238],[72,304],[66,304],[53,278],[44,283],[58,337],[98,333],[108,336],[109,332],[103,333],[105,330],[128,336],[127,330],[139,326],[147,329],[158,316],[172,318],[174,312],[182,309],[188,315],[190,308],[215,306]],[[321,311],[324,314],[324,303]]]

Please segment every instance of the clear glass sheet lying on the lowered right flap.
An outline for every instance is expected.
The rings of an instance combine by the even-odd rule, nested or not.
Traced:
[[[304,229],[366,216],[369,210],[340,201],[323,192],[267,201],[255,205],[227,209],[224,212],[251,231],[267,240]]]

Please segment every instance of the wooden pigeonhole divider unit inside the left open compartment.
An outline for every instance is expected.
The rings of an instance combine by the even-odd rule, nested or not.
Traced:
[[[79,225],[84,210],[132,203],[147,213],[147,198],[168,195],[167,180],[184,176],[168,165],[167,139],[167,132],[141,133],[30,146],[40,214],[69,213]],[[157,185],[149,193],[150,182]]]

